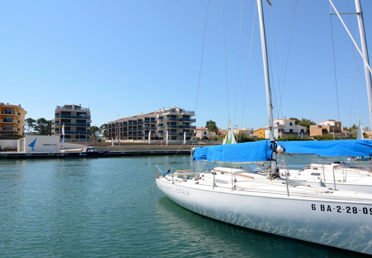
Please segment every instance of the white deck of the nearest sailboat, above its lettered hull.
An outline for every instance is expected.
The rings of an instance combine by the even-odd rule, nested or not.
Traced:
[[[272,198],[317,198],[318,201],[331,201],[332,199],[353,202],[372,201],[372,194],[310,186],[292,180],[288,180],[288,196],[286,180],[268,179],[265,174],[232,167],[217,167],[215,170],[201,173],[198,180],[195,180],[195,174],[189,172],[176,173],[173,174],[173,177],[169,174],[161,179],[174,182],[180,187],[232,194],[260,195]]]

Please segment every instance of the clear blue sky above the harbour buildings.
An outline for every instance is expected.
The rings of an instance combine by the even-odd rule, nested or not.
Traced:
[[[278,74],[281,86],[285,74],[282,109],[278,111],[277,100],[275,117],[338,120],[330,3],[298,1],[289,56],[294,2],[272,3],[274,23],[265,1],[264,10],[276,89]],[[48,120],[54,118],[55,106],[81,104],[90,108],[92,125],[115,120],[118,114],[177,106],[196,111],[196,126],[212,119],[226,129],[230,118],[234,125],[263,127],[267,115],[257,14],[245,96],[255,4],[243,2],[239,68],[240,1],[224,2],[226,83],[222,4],[210,1],[195,106],[207,1],[2,1],[0,102],[21,104],[26,118]],[[339,12],[355,11],[353,0],[334,4]],[[362,0],[362,9],[372,56],[372,1]],[[343,19],[356,38],[356,16]],[[351,124],[360,116],[368,126],[362,59],[357,54],[360,76],[354,72],[349,36],[337,16],[332,16],[332,23],[340,120],[349,126],[351,114]]]

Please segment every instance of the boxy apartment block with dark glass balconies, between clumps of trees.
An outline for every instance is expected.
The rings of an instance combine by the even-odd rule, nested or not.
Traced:
[[[52,135],[62,136],[62,125],[65,125],[65,141],[84,141],[90,139],[90,110],[79,105],[57,106],[52,120]]]

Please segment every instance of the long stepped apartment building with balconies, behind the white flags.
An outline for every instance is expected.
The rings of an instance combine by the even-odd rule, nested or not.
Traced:
[[[196,135],[193,116],[194,111],[173,107],[124,117],[108,122],[108,139],[146,140],[151,130],[151,140],[166,140],[167,131],[169,140],[183,140],[185,132],[186,140],[191,140]]]

